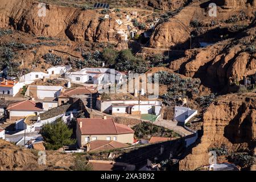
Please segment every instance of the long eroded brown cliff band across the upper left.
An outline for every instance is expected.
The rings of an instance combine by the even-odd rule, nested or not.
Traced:
[[[46,16],[39,16],[38,2],[30,0],[2,0],[0,27],[13,26],[34,35],[67,37],[71,40],[108,41],[110,28],[118,26],[114,19],[101,21],[94,10],[73,7],[46,6]]]

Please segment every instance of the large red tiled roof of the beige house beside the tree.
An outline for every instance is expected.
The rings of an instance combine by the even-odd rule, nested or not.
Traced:
[[[82,135],[110,135],[110,134],[129,134],[134,131],[125,125],[114,123],[113,118],[78,118],[78,125],[82,122],[80,127]]]

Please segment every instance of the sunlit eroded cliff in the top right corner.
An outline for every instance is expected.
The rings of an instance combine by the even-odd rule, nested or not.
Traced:
[[[221,0],[212,1],[217,6],[217,16],[211,17],[208,14],[209,4],[211,1],[194,1],[188,6],[185,6],[177,15],[170,18],[168,22],[159,24],[153,32],[150,39],[150,47],[164,47],[171,49],[189,49],[190,35],[193,32],[193,28],[190,26],[191,20],[198,20],[204,24],[210,24],[214,22],[222,22],[231,18],[233,15],[240,14],[244,11],[246,16],[253,16],[256,3],[252,1],[236,1],[236,0]],[[227,24],[220,23],[221,27],[227,26]],[[205,32],[213,30],[214,27],[209,26],[202,28]],[[218,34],[219,32],[216,32]],[[213,33],[214,34],[214,33]],[[210,39],[210,34],[205,35]]]

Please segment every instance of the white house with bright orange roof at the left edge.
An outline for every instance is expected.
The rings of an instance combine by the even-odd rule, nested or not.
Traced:
[[[11,81],[11,80],[3,80],[0,83],[0,94],[2,96],[12,96],[14,97],[18,92],[19,89],[22,88],[23,84],[18,81]]]

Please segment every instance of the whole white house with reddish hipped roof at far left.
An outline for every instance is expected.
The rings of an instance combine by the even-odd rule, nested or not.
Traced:
[[[41,102],[35,102],[32,100],[19,101],[10,104],[7,109],[9,113],[9,120],[15,121],[21,118],[25,118],[28,115],[39,115],[43,113],[43,105]]]

